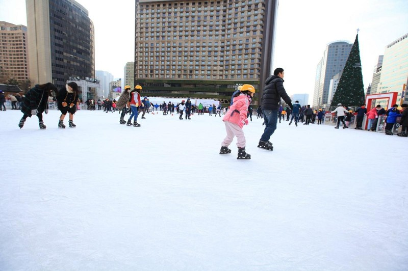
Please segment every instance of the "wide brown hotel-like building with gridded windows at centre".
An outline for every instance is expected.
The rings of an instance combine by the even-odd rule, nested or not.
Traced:
[[[136,0],[135,84],[147,95],[223,102],[238,85],[260,90],[276,9],[277,0]]]

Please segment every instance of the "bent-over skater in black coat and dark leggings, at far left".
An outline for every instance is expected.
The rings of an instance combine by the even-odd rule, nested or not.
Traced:
[[[18,123],[18,127],[21,129],[24,126],[27,117],[31,118],[31,116],[37,115],[40,129],[45,129],[42,113],[48,114],[48,97],[55,98],[57,92],[57,87],[52,83],[35,85],[34,88],[30,89],[22,98],[21,112],[24,115]]]

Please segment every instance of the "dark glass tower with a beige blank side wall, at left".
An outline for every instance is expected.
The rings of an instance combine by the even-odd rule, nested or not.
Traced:
[[[94,30],[74,0],[26,0],[30,79],[58,88],[72,78],[95,77]]]

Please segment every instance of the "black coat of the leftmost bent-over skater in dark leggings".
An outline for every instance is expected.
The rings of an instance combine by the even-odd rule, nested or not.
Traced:
[[[35,85],[22,98],[21,112],[31,117],[33,109],[37,109],[39,114],[48,109],[48,92],[38,88],[38,85]]]

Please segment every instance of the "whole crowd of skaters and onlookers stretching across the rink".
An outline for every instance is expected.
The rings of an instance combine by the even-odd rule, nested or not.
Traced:
[[[274,73],[266,79],[265,87],[262,91],[261,104],[255,111],[257,118],[264,120],[263,125],[265,128],[261,134],[258,142],[258,147],[266,150],[273,150],[270,138],[276,130],[277,121],[289,122],[291,125],[294,121],[295,126],[299,123],[303,125],[314,124],[317,119],[317,124],[324,123],[325,116],[331,114],[333,117],[337,117],[336,129],[339,129],[340,123],[343,124],[343,129],[350,127],[350,122],[355,118],[355,128],[357,130],[363,129],[364,116],[367,116],[367,130],[375,131],[378,124],[378,117],[386,117],[385,134],[392,135],[394,125],[401,125],[402,129],[397,135],[401,137],[407,137],[408,135],[408,104],[394,104],[390,109],[386,110],[381,105],[376,105],[373,109],[367,110],[366,104],[359,106],[355,112],[353,112],[346,105],[339,103],[335,110],[326,112],[324,109],[313,109],[310,105],[300,105],[299,101],[292,103],[290,97],[286,93],[283,86],[284,83],[284,70],[277,68]],[[231,153],[229,145],[232,143],[234,137],[237,137],[238,147],[238,159],[250,159],[251,155],[246,152],[246,141],[243,132],[243,126],[249,124],[249,120],[252,121],[252,98],[256,90],[252,85],[245,84],[234,92],[229,106],[222,107],[221,104],[212,104],[206,107],[202,103],[198,105],[192,104],[190,99],[182,100],[180,103],[163,102],[162,104],[152,104],[147,97],[141,98],[142,87],[136,85],[132,90],[130,86],[125,86],[124,91],[120,97],[114,100],[93,100],[88,99],[86,101],[87,109],[94,111],[96,105],[98,110],[104,107],[104,111],[120,113],[120,124],[126,124],[127,126],[140,127],[137,122],[138,116],[141,114],[141,119],[145,119],[145,114],[152,112],[157,114],[160,110],[163,115],[178,114],[179,119],[190,120],[191,115],[203,115],[208,113],[209,116],[217,115],[221,117],[223,115],[223,122],[225,124],[226,137],[221,142],[220,154]],[[78,85],[74,82],[67,83],[63,88],[58,90],[52,83],[46,83],[43,85],[36,85],[30,89],[25,95],[20,97],[19,95],[8,95],[7,99],[11,101],[12,109],[20,109],[23,113],[22,118],[18,126],[22,128],[27,118],[37,116],[40,129],[45,129],[46,126],[43,122],[42,114],[48,113],[49,99],[56,101],[58,110],[61,112],[59,117],[58,127],[65,128],[64,119],[68,114],[68,126],[76,127],[73,123],[73,116],[78,110],[80,104]],[[12,97],[10,97],[12,96]],[[283,103],[282,100],[285,102]],[[6,96],[3,92],[0,92],[0,110],[6,111],[5,107]],[[282,105],[285,104],[285,105]],[[398,109],[400,108],[400,109]],[[156,112],[156,113],[155,113]],[[129,113],[129,119],[124,120],[126,114]],[[183,118],[184,117],[184,118]],[[401,117],[400,120],[398,117]],[[133,120],[133,123],[132,123]],[[398,123],[397,123],[398,122]]]

